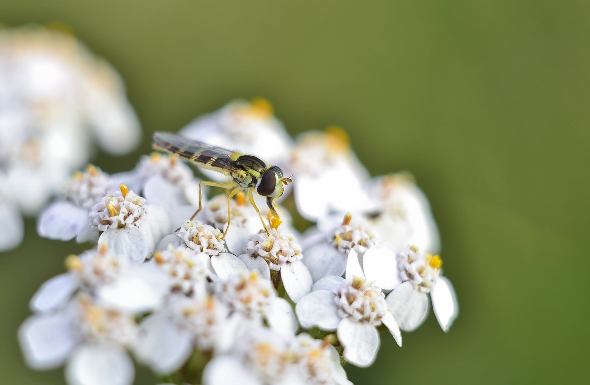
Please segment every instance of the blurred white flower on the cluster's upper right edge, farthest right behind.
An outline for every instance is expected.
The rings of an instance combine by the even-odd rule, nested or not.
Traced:
[[[430,253],[440,251],[440,235],[428,199],[409,173],[375,177],[371,195],[378,215],[371,223],[376,235],[396,251],[410,245]]]

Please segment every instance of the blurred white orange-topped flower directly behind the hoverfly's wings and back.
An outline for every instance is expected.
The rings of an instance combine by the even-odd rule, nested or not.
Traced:
[[[198,117],[179,134],[212,146],[255,154],[278,166],[287,162],[293,143],[283,124],[273,116],[273,106],[263,98],[232,101],[218,111]],[[226,180],[217,172],[201,171],[213,180]]]

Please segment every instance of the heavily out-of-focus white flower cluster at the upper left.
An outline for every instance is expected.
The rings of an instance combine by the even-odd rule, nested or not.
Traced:
[[[140,134],[119,75],[76,38],[0,29],[0,251],[19,245],[21,212],[47,205],[95,144],[122,154]]]

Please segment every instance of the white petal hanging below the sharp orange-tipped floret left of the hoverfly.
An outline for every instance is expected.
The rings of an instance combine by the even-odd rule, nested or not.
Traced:
[[[143,262],[150,251],[145,234],[136,227],[105,230],[99,238],[99,246],[101,245],[106,245],[119,258],[136,262]]]

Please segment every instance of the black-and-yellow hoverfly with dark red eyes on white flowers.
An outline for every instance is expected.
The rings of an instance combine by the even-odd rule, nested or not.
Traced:
[[[283,185],[292,182],[291,179],[283,177],[283,171],[278,166],[268,166],[263,160],[253,155],[244,155],[238,152],[222,149],[221,147],[210,146],[209,144],[187,139],[185,137],[158,131],[153,134],[153,148],[159,151],[165,151],[176,154],[179,158],[188,160],[199,167],[209,170],[215,170],[228,177],[231,177],[229,183],[202,181],[199,183],[199,208],[191,216],[191,221],[201,211],[201,186],[222,187],[228,189],[230,193],[227,196],[227,227],[221,239],[225,238],[230,228],[231,213],[230,199],[240,190],[245,190],[248,200],[260,217],[264,230],[268,234],[268,229],[264,219],[258,210],[252,190],[260,196],[266,196],[266,203],[271,213],[278,219],[278,213],[274,209],[274,199],[283,195]]]

